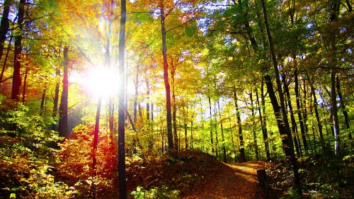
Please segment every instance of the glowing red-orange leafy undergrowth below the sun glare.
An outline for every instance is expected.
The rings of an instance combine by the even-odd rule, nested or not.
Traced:
[[[93,127],[78,125],[60,147],[57,176],[74,186],[80,192],[79,196],[91,195],[92,183],[98,197],[114,198],[117,195],[113,188],[118,183],[117,149],[109,132],[101,132],[98,136],[96,176],[91,169]]]

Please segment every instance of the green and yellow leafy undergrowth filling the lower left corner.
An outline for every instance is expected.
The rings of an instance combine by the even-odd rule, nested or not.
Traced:
[[[28,106],[2,98],[0,109],[0,196],[70,198],[74,191],[55,181],[51,166],[56,133]]]

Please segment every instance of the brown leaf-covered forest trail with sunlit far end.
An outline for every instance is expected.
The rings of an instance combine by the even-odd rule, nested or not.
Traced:
[[[221,198],[265,198],[263,188],[258,186],[257,170],[261,161],[226,164],[205,186],[195,188],[192,194],[184,197],[202,199]]]

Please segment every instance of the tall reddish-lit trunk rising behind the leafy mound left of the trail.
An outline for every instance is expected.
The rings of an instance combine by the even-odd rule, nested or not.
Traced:
[[[171,115],[171,90],[169,84],[169,64],[167,63],[167,47],[166,47],[166,29],[164,6],[161,6],[161,35],[162,35],[162,55],[164,58],[164,84],[166,89],[166,122],[167,122],[167,139],[169,149],[173,149],[172,135],[172,115]]]

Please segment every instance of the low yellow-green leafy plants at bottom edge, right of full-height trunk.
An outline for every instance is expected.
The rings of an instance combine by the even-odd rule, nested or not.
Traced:
[[[178,198],[178,195],[181,191],[178,190],[169,190],[169,187],[162,186],[161,188],[150,188],[149,190],[145,190],[142,186],[137,187],[137,191],[132,191],[130,195],[132,195],[136,199],[144,199],[144,198]]]

